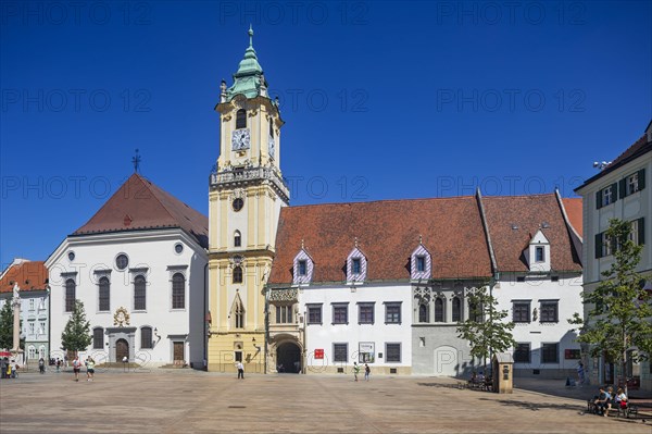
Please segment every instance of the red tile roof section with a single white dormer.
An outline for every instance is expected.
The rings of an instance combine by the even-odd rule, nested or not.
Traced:
[[[528,271],[523,251],[539,228],[550,241],[552,270],[581,271],[554,194],[482,197],[482,203],[499,271]]]

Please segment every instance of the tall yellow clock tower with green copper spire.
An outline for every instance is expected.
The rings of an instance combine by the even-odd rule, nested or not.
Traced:
[[[249,47],[227,87],[222,80],[220,158],[209,193],[209,371],[264,372],[264,286],[274,259],[280,208],[289,190],[280,174],[278,101]]]

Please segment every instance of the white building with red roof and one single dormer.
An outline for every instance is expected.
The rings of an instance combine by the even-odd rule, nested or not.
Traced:
[[[575,376],[581,312],[581,199],[482,197],[498,310],[514,322],[514,375]]]

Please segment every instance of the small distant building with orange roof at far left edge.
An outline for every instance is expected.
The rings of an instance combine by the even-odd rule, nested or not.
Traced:
[[[15,259],[0,275],[0,308],[11,302],[13,287],[21,288],[21,334],[25,338],[24,358],[36,363],[50,356],[50,292],[43,261]],[[9,348],[8,348],[9,349]]]

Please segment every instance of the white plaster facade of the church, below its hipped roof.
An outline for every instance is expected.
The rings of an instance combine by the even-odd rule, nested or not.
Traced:
[[[74,259],[71,259],[71,252]],[[124,270],[116,265],[118,255],[128,258]],[[115,362],[116,342],[124,338],[128,344],[129,361],[141,367],[191,363],[193,368],[203,368],[206,263],[205,250],[180,228],[68,236],[47,261],[52,297],[53,357],[64,355],[61,334],[71,317],[65,302],[66,281],[72,278],[76,298],[84,302],[91,334],[98,327],[103,331],[103,345],[93,340],[82,352],[83,358],[90,354],[98,363]],[[185,281],[183,309],[173,309],[172,277],[176,273],[183,274]],[[134,306],[134,283],[138,275],[147,281],[146,309],[141,310],[135,310]],[[103,311],[99,306],[101,276],[110,281],[110,307]],[[129,314],[129,323],[124,327],[114,323],[118,308],[125,308]],[[151,348],[143,345],[143,327],[151,327]],[[183,359],[179,356],[181,348]],[[58,350],[59,355],[54,355]]]

